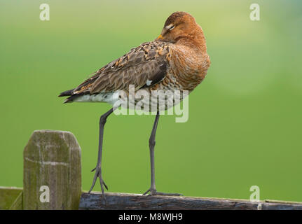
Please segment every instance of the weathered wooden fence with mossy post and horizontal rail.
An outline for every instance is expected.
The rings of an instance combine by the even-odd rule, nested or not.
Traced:
[[[302,210],[301,202],[250,202],[205,197],[143,196],[81,190],[81,148],[70,132],[39,130],[23,153],[23,188],[0,187],[0,209]]]

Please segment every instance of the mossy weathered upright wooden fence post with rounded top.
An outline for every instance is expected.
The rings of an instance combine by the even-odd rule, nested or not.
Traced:
[[[78,209],[81,148],[74,134],[34,131],[23,157],[23,209]]]

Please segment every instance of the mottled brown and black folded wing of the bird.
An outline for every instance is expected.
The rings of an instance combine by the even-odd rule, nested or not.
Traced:
[[[128,90],[129,85],[155,85],[165,78],[169,66],[169,44],[152,41],[142,43],[122,57],[110,62],[76,87],[73,94]]]

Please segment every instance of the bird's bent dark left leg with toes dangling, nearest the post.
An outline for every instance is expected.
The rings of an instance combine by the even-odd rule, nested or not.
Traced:
[[[116,109],[116,108],[115,108]],[[97,166],[95,169],[92,169],[91,172],[95,171],[95,177],[93,178],[92,186],[88,193],[91,192],[92,188],[95,186],[95,182],[97,181],[97,177],[99,178],[99,183],[101,184],[102,194],[104,196],[104,187],[108,190],[107,185],[104,183],[102,179],[102,149],[103,149],[103,136],[104,136],[104,126],[107,121],[108,116],[114,112],[114,108],[110,109],[106,113],[104,113],[101,118],[99,118],[99,153],[97,155]]]

